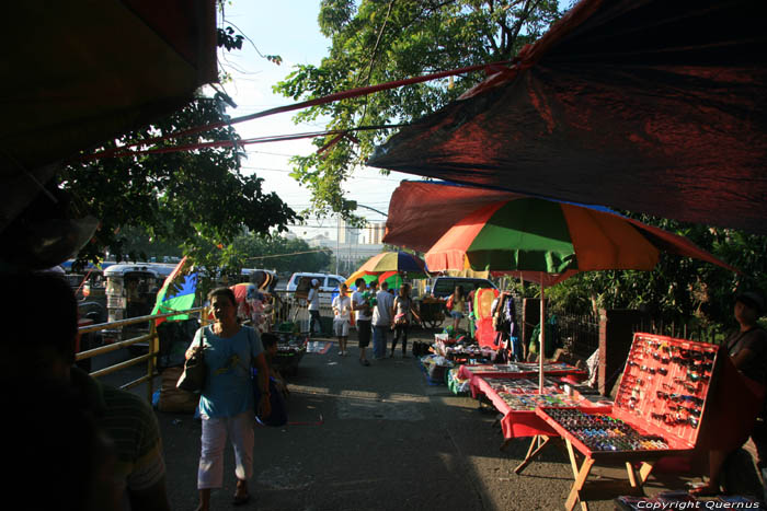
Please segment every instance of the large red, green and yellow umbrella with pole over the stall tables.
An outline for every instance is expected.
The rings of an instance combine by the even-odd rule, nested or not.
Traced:
[[[651,270],[660,253],[696,257],[735,270],[689,240],[606,208],[520,197],[486,204],[449,228],[426,253],[433,271],[471,268],[524,272],[541,283],[541,346],[546,286],[579,271]],[[540,386],[543,385],[543,357]]]

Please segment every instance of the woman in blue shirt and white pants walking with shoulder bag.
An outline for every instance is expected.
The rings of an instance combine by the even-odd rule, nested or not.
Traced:
[[[186,351],[187,358],[204,340],[206,379],[199,398],[203,419],[202,453],[197,471],[198,510],[210,509],[210,489],[224,480],[224,449],[227,435],[234,448],[237,491],[233,503],[248,502],[248,479],[253,473],[253,381],[251,364],[259,369],[261,403],[259,413],[272,413],[268,369],[259,334],[237,320],[237,301],[229,288],[208,293],[215,323],[197,330]]]

